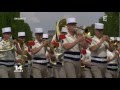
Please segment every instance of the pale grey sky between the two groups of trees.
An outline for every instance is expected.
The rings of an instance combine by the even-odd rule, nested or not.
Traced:
[[[99,22],[104,12],[21,12],[20,14],[33,32],[35,28],[43,28],[47,33],[48,30],[55,30],[56,21],[61,18],[75,17],[78,27],[91,26]]]

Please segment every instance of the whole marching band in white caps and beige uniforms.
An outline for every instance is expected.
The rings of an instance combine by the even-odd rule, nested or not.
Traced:
[[[95,23],[95,35],[77,28],[67,18],[59,36],[52,40],[43,28],[35,28],[35,40],[25,43],[25,32],[12,39],[11,27],[2,28],[0,78],[119,78],[120,37],[103,34]]]

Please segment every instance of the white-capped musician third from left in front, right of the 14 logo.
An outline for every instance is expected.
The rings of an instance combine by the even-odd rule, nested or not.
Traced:
[[[43,28],[35,28],[35,45],[32,46],[32,73],[33,78],[47,78],[48,77],[48,59],[45,52],[45,47],[48,42],[43,42]]]

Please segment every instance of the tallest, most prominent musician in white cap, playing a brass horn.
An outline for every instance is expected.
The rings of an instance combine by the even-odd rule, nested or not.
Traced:
[[[67,18],[68,34],[63,40],[64,69],[67,78],[80,77],[80,47],[79,42],[84,40],[83,36],[76,38],[76,18]]]

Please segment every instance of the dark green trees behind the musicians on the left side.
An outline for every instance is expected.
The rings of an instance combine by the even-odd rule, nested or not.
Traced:
[[[20,12],[0,12],[0,29],[11,27],[13,38],[18,37],[18,32],[25,32],[26,42],[31,40],[32,31],[30,30],[30,26],[24,20],[14,20],[14,18],[20,18]],[[0,36],[2,36],[2,32],[0,32]]]

